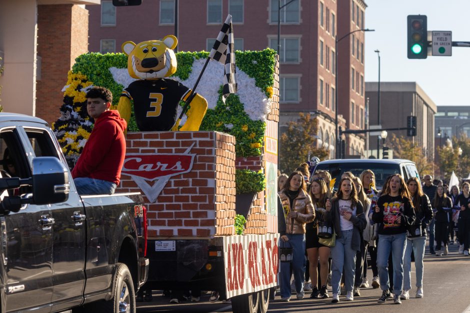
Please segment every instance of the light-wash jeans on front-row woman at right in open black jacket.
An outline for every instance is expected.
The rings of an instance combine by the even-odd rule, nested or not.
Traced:
[[[426,247],[426,236],[406,238],[406,249],[403,259],[403,289],[411,289],[411,252],[414,253],[414,266],[416,267],[416,287],[422,287],[422,273],[424,264],[424,249]]]

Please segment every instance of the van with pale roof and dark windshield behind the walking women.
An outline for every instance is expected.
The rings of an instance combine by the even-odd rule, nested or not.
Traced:
[[[419,173],[414,162],[402,159],[334,159],[318,162],[316,170],[328,171],[331,178],[336,178],[334,189],[336,190],[344,172],[351,172],[359,177],[364,170],[371,170],[375,174],[376,189],[381,190],[388,176],[400,174],[406,182],[410,177],[417,177]]]

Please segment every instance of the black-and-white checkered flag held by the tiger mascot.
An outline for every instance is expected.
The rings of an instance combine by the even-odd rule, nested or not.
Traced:
[[[228,14],[225,22],[223,23],[222,29],[220,29],[220,32],[218,33],[217,39],[215,39],[212,50],[210,50],[209,59],[210,58],[225,65],[223,69],[222,90],[222,101],[225,103],[225,99],[228,95],[236,92],[235,51],[230,14]]]

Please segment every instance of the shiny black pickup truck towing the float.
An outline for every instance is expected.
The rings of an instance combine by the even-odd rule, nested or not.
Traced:
[[[0,113],[0,311],[135,312],[140,194],[79,196],[47,123]]]

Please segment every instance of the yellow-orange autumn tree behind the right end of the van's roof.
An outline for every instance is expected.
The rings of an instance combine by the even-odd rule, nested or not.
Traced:
[[[392,134],[390,144],[394,158],[413,161],[420,175],[433,174],[434,162],[428,157],[426,150],[420,147],[417,142]]]

